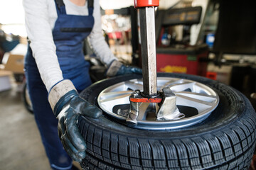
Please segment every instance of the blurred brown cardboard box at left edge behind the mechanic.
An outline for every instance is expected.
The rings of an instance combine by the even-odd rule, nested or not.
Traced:
[[[24,73],[24,56],[23,55],[9,55],[4,70],[11,71],[14,74]]]

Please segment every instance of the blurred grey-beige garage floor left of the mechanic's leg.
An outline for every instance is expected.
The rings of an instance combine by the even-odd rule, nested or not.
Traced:
[[[0,169],[50,169],[35,120],[16,84],[0,92]]]

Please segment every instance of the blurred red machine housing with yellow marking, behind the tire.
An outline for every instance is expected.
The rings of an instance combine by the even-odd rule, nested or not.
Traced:
[[[206,77],[208,47],[190,47],[177,50],[175,48],[156,49],[156,71],[194,74]]]

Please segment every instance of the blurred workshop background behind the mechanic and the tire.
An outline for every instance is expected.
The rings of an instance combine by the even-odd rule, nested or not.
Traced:
[[[15,4],[15,5],[14,5]],[[101,0],[102,34],[124,64],[142,67],[133,0]],[[158,72],[195,74],[233,86],[256,106],[256,15],[250,2],[160,0]],[[21,0],[0,1],[0,169],[50,169],[26,90],[27,38]],[[92,81],[106,67],[85,41]]]

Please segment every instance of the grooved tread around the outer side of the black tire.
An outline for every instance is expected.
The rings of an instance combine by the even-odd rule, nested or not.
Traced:
[[[189,79],[191,76],[174,74]],[[235,121],[209,133],[195,136],[167,138],[127,135],[121,131],[95,125],[90,119],[80,117],[78,121],[82,137],[87,142],[87,156],[80,163],[83,169],[248,169],[255,147],[255,111],[247,98],[234,89],[201,77],[195,81],[218,89],[234,102],[238,112],[245,113]],[[97,89],[100,84],[95,84]],[[88,92],[89,91],[89,92]],[[90,98],[93,89],[83,97]],[[238,94],[237,94],[238,93]],[[238,107],[241,106],[241,107]],[[244,106],[244,107],[242,107]],[[221,110],[222,108],[220,108]]]

